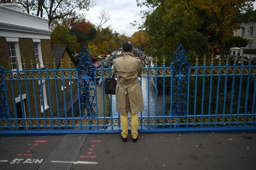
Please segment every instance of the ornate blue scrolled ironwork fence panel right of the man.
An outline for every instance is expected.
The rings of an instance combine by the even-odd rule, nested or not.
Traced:
[[[174,53],[172,67],[172,115],[186,115],[187,95],[188,95],[188,70],[190,64],[187,61],[188,53],[180,44]]]

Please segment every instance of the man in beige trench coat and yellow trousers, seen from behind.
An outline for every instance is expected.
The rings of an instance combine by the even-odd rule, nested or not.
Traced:
[[[138,139],[138,112],[144,110],[142,88],[138,79],[142,64],[138,57],[132,56],[132,43],[125,41],[119,57],[113,61],[114,75],[117,76],[116,111],[121,114],[121,138],[127,141],[128,112],[131,115],[132,142]]]

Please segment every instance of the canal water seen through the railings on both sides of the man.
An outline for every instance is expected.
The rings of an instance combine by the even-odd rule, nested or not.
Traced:
[[[142,111],[142,116],[155,116],[155,115],[170,115],[170,94],[164,95],[164,112],[163,112],[163,95],[156,94],[155,80],[149,78],[141,78],[142,94],[144,100],[144,110]],[[148,98],[149,89],[149,98]],[[157,96],[156,96],[157,95]],[[110,98],[110,95],[109,95]],[[157,98],[157,99],[156,99]],[[148,105],[149,100],[149,105]],[[157,100],[157,103],[156,103]],[[156,114],[157,110],[157,114]],[[118,117],[118,112],[116,111],[116,96],[112,95],[112,116]]]

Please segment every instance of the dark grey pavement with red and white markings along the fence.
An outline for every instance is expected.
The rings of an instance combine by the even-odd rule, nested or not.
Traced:
[[[256,133],[120,134],[0,138],[0,169],[254,170]]]

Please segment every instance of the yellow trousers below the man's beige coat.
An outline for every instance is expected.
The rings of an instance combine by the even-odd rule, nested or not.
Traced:
[[[121,128],[122,128],[122,136],[126,138],[128,136],[128,112],[125,112],[125,115],[121,115]],[[138,113],[131,115],[131,130],[132,130],[132,138],[136,139],[138,136],[138,127],[139,127],[139,121],[138,121]]]

